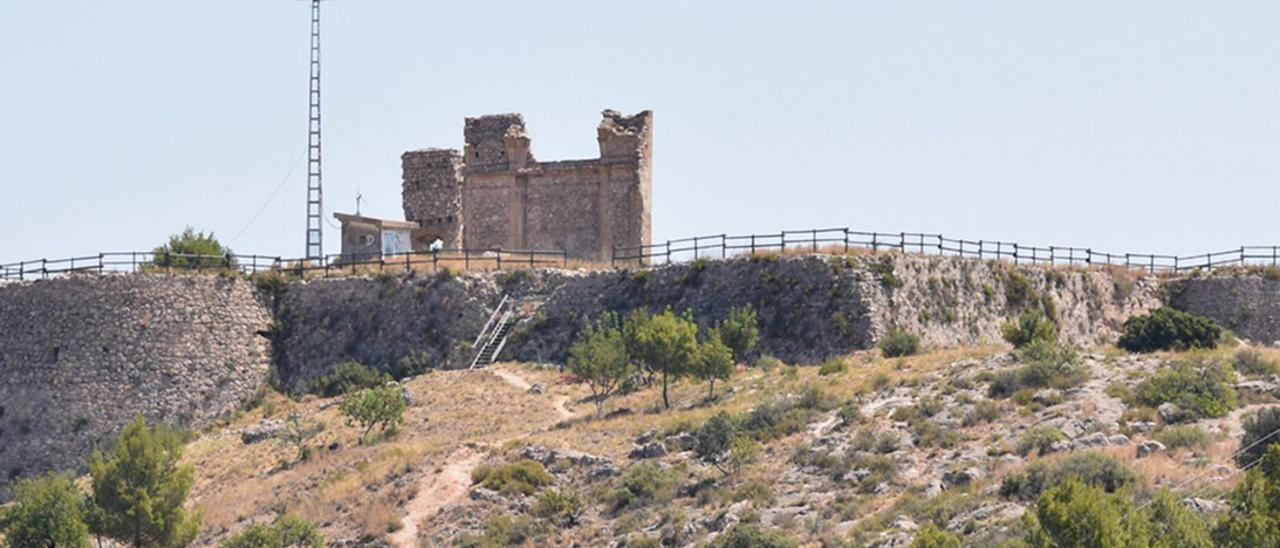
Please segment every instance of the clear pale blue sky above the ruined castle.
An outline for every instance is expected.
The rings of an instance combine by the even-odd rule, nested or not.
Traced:
[[[325,4],[326,209],[521,111],[539,159],[655,111],[654,238],[1280,242],[1280,3]],[[307,4],[0,4],[0,261],[224,241],[305,147]],[[303,252],[302,169],[233,247]],[[326,214],[328,215],[328,214]],[[326,251],[337,230],[326,229]]]

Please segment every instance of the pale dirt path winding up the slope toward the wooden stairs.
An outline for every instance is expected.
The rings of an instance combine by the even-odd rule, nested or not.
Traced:
[[[529,391],[532,387],[529,380],[525,380],[517,373],[497,367],[489,369],[489,371],[521,391]],[[553,399],[556,414],[561,420],[573,417],[573,412],[564,407],[566,402],[568,402],[567,396],[557,396]],[[531,433],[507,438],[498,444],[500,446],[502,443],[520,439],[529,434]],[[449,455],[445,458],[447,463],[439,470],[433,470],[430,474],[424,475],[417,483],[417,493],[404,504],[404,517],[401,519],[401,529],[388,538],[390,545],[398,548],[416,547],[419,526],[422,521],[458,499],[458,497],[466,494],[467,488],[471,487],[471,470],[480,465],[481,460],[484,460],[483,451],[462,447]]]

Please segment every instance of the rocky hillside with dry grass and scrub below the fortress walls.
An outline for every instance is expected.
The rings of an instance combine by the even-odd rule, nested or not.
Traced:
[[[1037,481],[1062,470],[1138,497],[1174,488],[1220,512],[1239,478],[1242,416],[1277,401],[1265,373],[1277,359],[1102,350],[1039,376],[1043,356],[1002,347],[858,351],[823,366],[765,359],[713,399],[681,382],[663,411],[641,387],[603,416],[554,367],[502,364],[407,380],[408,420],[388,439],[360,444],[334,401],[266,396],[201,435],[188,460],[210,545],[280,512],[316,521],[333,545],[701,545],[735,524],[803,545],[886,547],[933,524],[996,545],[1023,535]],[[1226,387],[1228,414],[1198,419],[1144,399],[1176,362],[1249,375]],[[325,425],[305,461],[271,439],[291,412]],[[699,440],[717,416],[753,440],[713,463]]]

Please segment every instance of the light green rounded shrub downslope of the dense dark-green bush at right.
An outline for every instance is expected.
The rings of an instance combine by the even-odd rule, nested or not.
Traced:
[[[1235,408],[1236,396],[1231,369],[1210,356],[1178,360],[1138,385],[1138,403],[1158,407],[1176,405],[1188,417],[1226,415]]]

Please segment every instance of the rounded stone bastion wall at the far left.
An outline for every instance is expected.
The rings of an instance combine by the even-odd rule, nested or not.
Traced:
[[[83,470],[141,414],[198,426],[266,382],[271,315],[244,280],[134,274],[0,287],[0,494]]]

